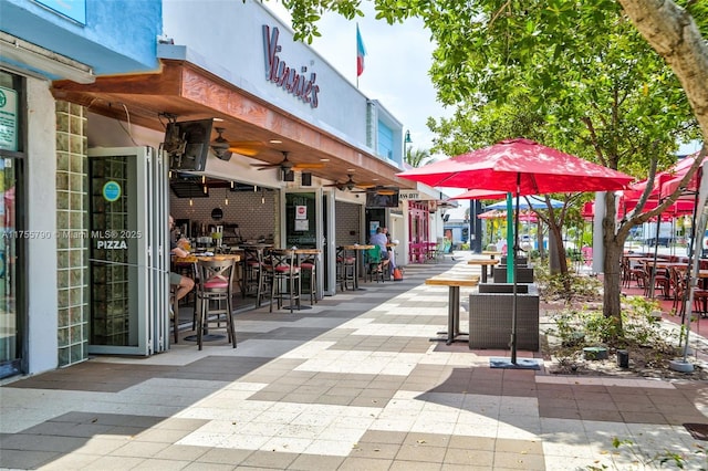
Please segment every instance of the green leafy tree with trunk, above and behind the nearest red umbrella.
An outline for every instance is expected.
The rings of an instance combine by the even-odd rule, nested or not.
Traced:
[[[282,1],[305,40],[319,35],[325,11],[363,15],[361,0]],[[542,144],[637,177],[648,168],[653,177],[670,164],[677,139],[708,140],[708,46],[700,38],[708,35],[708,2],[678,2],[685,10],[670,0],[373,3],[388,23],[420,18],[438,45],[430,75],[438,100],[458,109],[437,125],[448,134],[436,146],[449,155],[525,129]],[[608,192],[604,310],[621,323],[624,240],[663,207],[617,227],[614,205]]]

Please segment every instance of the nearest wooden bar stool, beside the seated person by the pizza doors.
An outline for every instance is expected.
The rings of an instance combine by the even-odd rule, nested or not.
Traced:
[[[227,260],[200,260],[197,262],[199,270],[199,284],[197,289],[197,302],[199,304],[197,315],[197,344],[201,349],[205,331],[212,323],[221,326],[226,321],[226,329],[229,342],[236,348],[236,329],[233,328],[233,272],[236,263]],[[214,305],[216,303],[216,306]],[[226,304],[226,305],[223,305]],[[216,315],[216,317],[214,317]],[[211,317],[211,318],[210,318]]]

